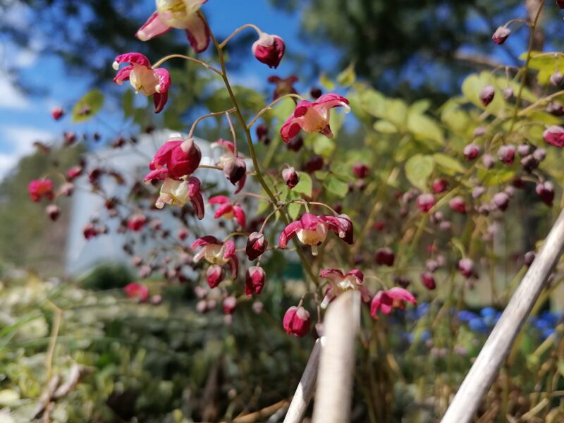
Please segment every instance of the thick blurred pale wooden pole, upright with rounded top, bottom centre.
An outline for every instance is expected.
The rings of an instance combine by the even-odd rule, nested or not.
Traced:
[[[348,291],[334,300],[325,316],[313,423],[350,421],[360,295]]]

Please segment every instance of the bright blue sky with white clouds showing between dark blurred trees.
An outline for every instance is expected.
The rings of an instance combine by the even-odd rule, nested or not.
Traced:
[[[154,1],[145,0],[141,7],[150,13],[154,9]],[[267,0],[210,0],[204,4],[203,10],[210,17],[212,27],[217,28],[216,32],[221,35],[227,35],[245,23],[255,23],[265,32],[282,37],[287,51],[305,51],[309,48],[299,37],[298,18],[276,10]],[[8,8],[3,19],[33,28],[33,25],[28,24],[29,11],[25,6],[16,4]],[[54,106],[63,106],[69,111],[76,100],[89,90],[90,83],[79,76],[69,76],[59,58],[42,54],[42,34],[39,28],[35,32],[26,49],[17,48],[9,39],[0,39],[0,179],[6,176],[20,157],[33,151],[32,143],[35,140],[51,141],[60,138],[64,130],[104,132],[104,128],[94,120],[75,125],[68,116],[59,122],[51,118],[50,111]],[[116,55],[121,53],[123,51],[116,51]],[[324,49],[323,60],[328,65],[334,63],[336,57],[336,51]],[[19,71],[24,85],[39,87],[43,92],[38,94],[37,90],[31,90],[26,93],[20,90],[15,81],[9,78],[8,68]],[[288,61],[282,61],[276,74],[284,77],[292,71],[292,65]],[[260,88],[273,73],[267,66],[249,56],[249,61],[233,76],[237,82]],[[119,126],[120,121],[115,116],[116,110],[112,109],[111,104],[105,106],[100,114],[104,121]]]

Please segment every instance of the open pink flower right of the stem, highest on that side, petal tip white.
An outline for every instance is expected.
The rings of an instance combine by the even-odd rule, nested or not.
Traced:
[[[329,126],[329,113],[333,107],[338,106],[343,106],[345,113],[350,111],[348,99],[338,94],[323,94],[314,103],[307,100],[298,102],[294,113],[280,130],[282,139],[284,142],[290,142],[301,129],[307,133],[321,133],[328,138],[333,137]]]

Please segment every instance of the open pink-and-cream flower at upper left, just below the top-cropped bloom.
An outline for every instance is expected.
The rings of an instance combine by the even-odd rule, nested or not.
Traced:
[[[128,62],[129,65],[118,71],[120,63],[124,62]],[[117,85],[128,80],[136,92],[147,97],[153,96],[155,113],[159,113],[164,108],[168,99],[168,88],[171,87],[171,75],[166,69],[153,69],[149,59],[140,53],[126,53],[117,56],[114,61],[114,69],[118,71],[114,78]]]

